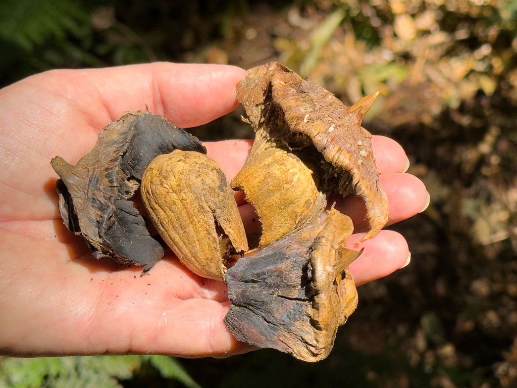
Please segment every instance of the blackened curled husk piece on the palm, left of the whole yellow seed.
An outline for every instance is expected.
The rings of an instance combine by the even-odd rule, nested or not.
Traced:
[[[144,265],[163,256],[145,220],[129,200],[149,162],[176,148],[206,153],[201,142],[163,117],[133,112],[108,125],[95,148],[71,166],[55,157],[59,212],[66,227],[82,235],[96,258]]]

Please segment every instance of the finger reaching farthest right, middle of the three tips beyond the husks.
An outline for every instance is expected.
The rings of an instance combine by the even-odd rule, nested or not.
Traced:
[[[425,185],[416,176],[407,173],[384,174],[380,177],[389,204],[388,225],[413,217],[429,205],[430,197]],[[364,219],[366,207],[362,198],[356,196],[341,199],[333,196],[329,203],[352,218],[356,232],[368,230]]]

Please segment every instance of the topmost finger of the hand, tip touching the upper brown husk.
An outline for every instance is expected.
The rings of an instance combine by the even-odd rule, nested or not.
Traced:
[[[237,108],[236,85],[245,77],[246,71],[235,66],[153,63],[58,70],[27,82],[66,94],[98,130],[128,111],[147,109],[188,128]]]

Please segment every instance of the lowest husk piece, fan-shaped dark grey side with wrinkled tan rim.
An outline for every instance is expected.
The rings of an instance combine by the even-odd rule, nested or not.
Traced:
[[[332,209],[324,221],[240,259],[226,274],[232,334],[303,361],[323,360],[357,306],[348,266],[360,252],[344,248],[352,232],[352,221]]]

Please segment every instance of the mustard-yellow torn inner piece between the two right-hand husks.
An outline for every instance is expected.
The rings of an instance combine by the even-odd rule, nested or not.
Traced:
[[[327,201],[313,172],[298,157],[279,148],[250,156],[232,181],[262,221],[261,246],[267,246],[320,217]]]

